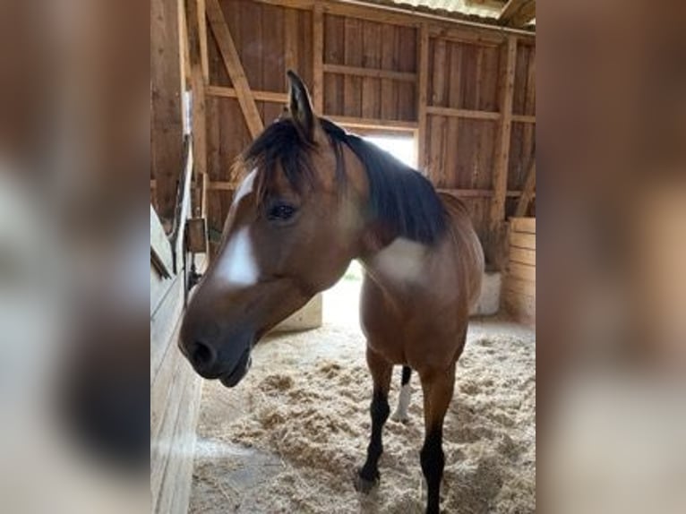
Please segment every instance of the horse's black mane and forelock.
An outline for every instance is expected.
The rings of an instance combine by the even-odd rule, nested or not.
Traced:
[[[445,211],[433,185],[416,169],[394,158],[387,151],[352,133],[339,125],[320,118],[322,128],[330,138],[336,152],[336,176],[345,179],[341,144],[347,145],[364,165],[369,179],[370,204],[373,219],[381,222],[396,236],[406,237],[423,244],[434,244],[445,232]],[[271,124],[244,152],[242,159],[246,169],[264,170],[258,182],[258,191],[269,182],[276,172],[276,164],[288,183],[301,191],[304,182],[312,183],[313,168],[308,158],[312,144],[303,140],[290,119]]]

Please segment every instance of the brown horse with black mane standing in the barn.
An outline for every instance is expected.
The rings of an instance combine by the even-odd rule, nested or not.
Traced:
[[[442,425],[455,363],[484,268],[467,210],[416,170],[314,115],[288,72],[289,113],[239,161],[249,172],[222,243],[185,314],[180,347],[203,377],[235,386],[253,345],[331,287],[358,259],[361,321],[373,377],[372,436],[356,488],[379,480],[393,364],[403,365],[396,417],[407,418],[410,369],[424,390],[421,465],[427,512],[439,511]]]

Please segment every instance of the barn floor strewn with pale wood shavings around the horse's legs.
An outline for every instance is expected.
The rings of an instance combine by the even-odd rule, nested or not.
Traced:
[[[410,421],[384,430],[380,486],[356,493],[368,443],[371,379],[355,277],[324,297],[324,326],[263,341],[234,390],[206,382],[192,514],[424,512],[424,422],[413,376]],[[342,305],[345,304],[345,308]],[[536,510],[536,336],[502,319],[472,321],[444,428],[442,510]],[[399,368],[390,392],[399,390]]]

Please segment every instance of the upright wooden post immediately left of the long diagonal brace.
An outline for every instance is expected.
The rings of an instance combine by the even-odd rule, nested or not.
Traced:
[[[199,9],[202,0],[186,0],[188,56],[193,91],[193,162],[196,174],[207,173],[207,126],[205,121],[205,81],[202,78],[202,44]],[[204,15],[203,15],[204,19]]]

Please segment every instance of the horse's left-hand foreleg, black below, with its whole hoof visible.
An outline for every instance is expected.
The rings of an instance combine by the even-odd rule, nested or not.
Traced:
[[[382,430],[390,414],[388,396],[393,370],[392,364],[369,347],[367,365],[373,380],[373,398],[369,409],[372,415],[372,437],[367,447],[367,459],[356,476],[356,490],[362,493],[368,493],[379,482],[379,458],[383,453]]]

